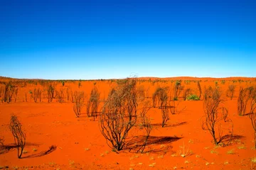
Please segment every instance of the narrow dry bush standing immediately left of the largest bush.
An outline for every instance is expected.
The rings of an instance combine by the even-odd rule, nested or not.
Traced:
[[[90,93],[90,98],[87,101],[87,115],[90,116],[91,111],[91,116],[93,116],[93,120],[97,118],[97,108],[100,103],[99,100],[100,92],[97,90],[96,87],[94,87]]]

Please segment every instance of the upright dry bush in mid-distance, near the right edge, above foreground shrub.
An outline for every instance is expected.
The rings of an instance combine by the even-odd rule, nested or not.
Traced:
[[[252,86],[245,89],[240,87],[238,96],[238,115],[245,115],[247,110],[247,103],[252,97],[252,94],[254,93],[253,91],[254,88]]]

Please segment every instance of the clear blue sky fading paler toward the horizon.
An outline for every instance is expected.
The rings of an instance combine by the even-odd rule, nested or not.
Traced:
[[[0,76],[256,77],[256,1],[1,1]]]

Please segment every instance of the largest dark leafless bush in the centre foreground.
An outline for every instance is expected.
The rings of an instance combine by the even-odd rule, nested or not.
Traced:
[[[136,94],[135,79],[119,81],[117,89],[110,91],[100,113],[100,132],[115,151],[124,148],[129,130],[137,122]]]

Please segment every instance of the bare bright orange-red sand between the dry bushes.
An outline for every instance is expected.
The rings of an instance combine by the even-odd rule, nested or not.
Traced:
[[[164,137],[169,139],[155,142],[145,149],[147,151],[154,148],[155,152],[141,154],[124,149],[117,154],[107,146],[105,138],[100,133],[98,118],[96,121],[88,118],[85,107],[80,118],[76,118],[73,113],[73,103],[67,101],[66,98],[64,103],[57,103],[55,99],[52,103],[48,103],[46,98],[43,98],[43,102],[34,103],[28,91],[33,91],[36,86],[42,86],[39,83],[37,85],[27,83],[26,87],[19,85],[16,103],[0,103],[0,136],[4,137],[4,145],[14,144],[14,137],[9,130],[10,116],[14,113],[18,115],[23,124],[23,130],[26,132],[26,153],[23,153],[23,159],[18,159],[16,149],[9,149],[0,154],[0,167],[9,166],[9,169],[250,169],[255,166],[251,162],[251,159],[256,157],[256,151],[252,149],[254,131],[250,119],[247,116],[238,116],[237,113],[240,86],[255,86],[255,78],[175,77],[158,79],[147,77],[139,79],[151,79],[151,81],[138,81],[137,83],[137,86],[149,89],[146,93],[149,97],[152,96],[156,87],[172,86],[174,83],[171,83],[171,80],[176,79],[183,80],[181,85],[185,88],[192,88],[195,93],[198,90],[193,80],[201,80],[202,89],[204,86],[215,86],[215,81],[218,81],[223,96],[225,96],[228,85],[233,84],[232,80],[242,80],[234,83],[236,88],[233,100],[225,98],[225,106],[228,107],[229,117],[234,124],[234,135],[240,137],[233,140],[232,145],[228,147],[215,147],[210,133],[201,128],[200,119],[204,115],[203,101],[181,101],[179,107],[186,107],[186,109],[181,113],[170,115],[166,128],[161,128],[159,125],[161,110],[151,108],[149,111],[151,123],[154,125],[149,139],[152,141],[159,138],[165,139]],[[9,80],[0,77],[0,81]],[[185,80],[192,81],[185,83]],[[225,84],[221,80],[225,80]],[[12,79],[12,81],[22,80]],[[73,91],[85,91],[87,98],[93,86],[97,86],[102,101],[107,98],[110,89],[116,86],[116,83],[111,80],[81,82],[80,88],[78,88],[78,81],[66,81],[64,87],[58,81],[54,81],[54,84],[57,89],[69,87]],[[0,86],[4,85],[0,84]],[[25,93],[28,94],[28,102],[25,102]],[[149,99],[151,101],[151,98]],[[129,135],[138,135],[137,132],[137,129],[132,130]],[[188,157],[181,157],[178,154],[183,143],[192,153]],[[53,152],[41,154],[52,145],[56,146]],[[230,150],[233,150],[233,154],[228,154]]]

